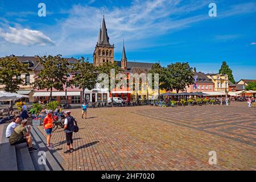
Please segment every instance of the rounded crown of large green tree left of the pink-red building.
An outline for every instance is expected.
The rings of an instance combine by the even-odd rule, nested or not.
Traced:
[[[184,91],[185,87],[193,84],[192,68],[188,63],[174,63],[164,68],[161,88],[168,90]]]

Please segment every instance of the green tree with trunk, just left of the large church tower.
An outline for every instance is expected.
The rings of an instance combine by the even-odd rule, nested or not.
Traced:
[[[72,70],[77,73],[72,79],[73,84],[79,85],[82,89],[82,101],[84,101],[84,90],[92,90],[97,83],[96,67],[89,63],[88,59],[85,61],[82,57],[78,63],[73,65]]]

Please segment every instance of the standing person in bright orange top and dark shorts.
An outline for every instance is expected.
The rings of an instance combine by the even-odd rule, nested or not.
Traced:
[[[52,137],[52,122],[53,122],[53,118],[52,118],[52,110],[47,110],[46,111],[46,117],[44,118],[44,131],[46,131],[46,146],[52,150],[53,146],[50,143],[51,137]]]

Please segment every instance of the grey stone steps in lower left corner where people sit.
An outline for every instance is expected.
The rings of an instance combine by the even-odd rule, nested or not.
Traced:
[[[28,152],[27,144],[16,146],[9,144],[5,137],[7,124],[0,125],[0,171],[62,171],[63,158],[55,150],[46,147],[46,137],[37,127],[32,127],[33,144],[38,151]],[[45,152],[45,153],[44,153]],[[42,155],[46,154],[46,164],[43,164]]]

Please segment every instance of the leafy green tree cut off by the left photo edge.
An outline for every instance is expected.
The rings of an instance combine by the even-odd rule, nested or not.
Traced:
[[[24,80],[19,76],[28,73],[28,64],[23,64],[17,57],[0,58],[0,84],[5,85],[6,92],[16,92],[19,85],[24,85]]]

